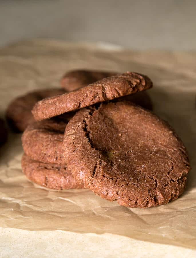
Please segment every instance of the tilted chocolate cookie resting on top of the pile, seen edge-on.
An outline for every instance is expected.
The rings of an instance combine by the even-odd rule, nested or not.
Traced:
[[[147,76],[135,72],[126,72],[104,78],[61,96],[43,99],[35,104],[32,113],[35,120],[39,121],[151,87],[152,82]]]

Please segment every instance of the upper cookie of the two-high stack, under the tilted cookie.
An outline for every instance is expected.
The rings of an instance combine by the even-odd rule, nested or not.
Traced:
[[[25,153],[40,162],[64,163],[62,143],[66,125],[73,112],[31,123],[22,135]]]

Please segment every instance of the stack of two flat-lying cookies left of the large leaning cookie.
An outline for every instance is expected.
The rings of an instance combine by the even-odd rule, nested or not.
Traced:
[[[22,136],[23,172],[29,180],[56,190],[83,188],[63,159],[63,138],[69,116],[31,123]]]

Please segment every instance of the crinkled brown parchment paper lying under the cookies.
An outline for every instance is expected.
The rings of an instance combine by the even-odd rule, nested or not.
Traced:
[[[90,190],[52,191],[21,171],[21,134],[9,133],[0,149],[0,227],[28,231],[110,233],[154,243],[196,248],[196,52],[134,52],[104,44],[49,40],[0,49],[0,115],[17,95],[59,87],[70,69],[92,68],[147,74],[154,113],[167,120],[185,143],[191,162],[185,193],[149,209],[108,202]],[[163,164],[164,165],[164,164]]]

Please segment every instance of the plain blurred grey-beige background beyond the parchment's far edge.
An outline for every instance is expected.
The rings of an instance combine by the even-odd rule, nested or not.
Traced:
[[[32,38],[196,49],[195,0],[1,0],[0,46]]]

